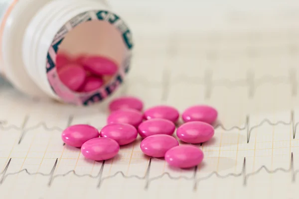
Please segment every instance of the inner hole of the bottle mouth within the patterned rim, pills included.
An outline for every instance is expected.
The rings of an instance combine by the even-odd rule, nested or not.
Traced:
[[[92,92],[107,85],[120,69],[126,47],[107,21],[87,21],[68,32],[56,55],[60,81],[70,90]]]

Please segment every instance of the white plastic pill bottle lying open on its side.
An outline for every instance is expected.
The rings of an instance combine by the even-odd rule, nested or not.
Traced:
[[[96,22],[92,27],[97,29],[84,29],[80,39],[101,41],[99,52],[111,59],[117,57],[118,71],[101,88],[78,93],[57,77],[56,55],[71,31],[91,22]],[[102,101],[123,83],[132,48],[128,25],[105,0],[0,1],[0,75],[27,95],[76,105]],[[115,55],[113,49],[121,50]]]

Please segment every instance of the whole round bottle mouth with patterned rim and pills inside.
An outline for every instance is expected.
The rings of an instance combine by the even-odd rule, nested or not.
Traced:
[[[92,20],[94,16],[100,20]],[[132,46],[129,28],[113,13],[95,11],[74,17],[58,31],[48,52],[52,90],[75,104],[105,99],[123,82]]]

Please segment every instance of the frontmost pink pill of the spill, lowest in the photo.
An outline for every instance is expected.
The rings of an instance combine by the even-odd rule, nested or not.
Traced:
[[[203,152],[194,145],[180,145],[165,153],[165,161],[173,167],[187,169],[195,167],[203,160]]]

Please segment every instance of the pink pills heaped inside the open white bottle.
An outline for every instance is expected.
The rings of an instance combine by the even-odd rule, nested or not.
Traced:
[[[78,56],[65,53],[56,56],[56,69],[60,81],[75,92],[91,92],[104,85],[105,77],[114,75],[118,66],[102,56]]]

